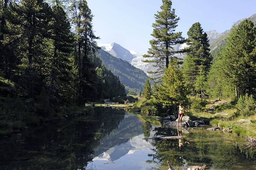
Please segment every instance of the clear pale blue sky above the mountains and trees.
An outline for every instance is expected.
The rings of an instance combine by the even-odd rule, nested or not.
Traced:
[[[94,19],[99,44],[117,43],[128,50],[147,53],[152,39],[154,14],[160,11],[161,0],[87,0]],[[173,0],[180,18],[177,31],[187,31],[200,22],[204,31],[223,32],[234,22],[256,13],[256,0]]]

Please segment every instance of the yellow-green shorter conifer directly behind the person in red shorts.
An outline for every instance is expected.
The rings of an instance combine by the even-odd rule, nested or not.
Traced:
[[[164,108],[169,108],[172,113],[177,111],[179,103],[186,103],[188,101],[186,97],[187,89],[185,88],[183,75],[176,59],[170,62],[168,68],[165,69],[162,83],[155,86],[154,90],[157,103],[162,104]]]

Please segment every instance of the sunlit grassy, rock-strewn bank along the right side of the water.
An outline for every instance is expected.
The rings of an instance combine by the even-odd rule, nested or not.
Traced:
[[[140,100],[136,102],[129,110],[140,109],[149,115],[157,113],[156,108],[150,100]],[[246,107],[246,106],[245,106]],[[189,98],[188,110],[185,115],[192,121],[203,120],[205,124],[212,127],[219,127],[218,130],[233,133],[234,135],[256,137],[256,114],[246,116],[240,114],[236,102],[227,100],[202,100],[200,98]],[[166,113],[157,113],[157,115],[166,115]],[[176,119],[177,119],[177,115]]]

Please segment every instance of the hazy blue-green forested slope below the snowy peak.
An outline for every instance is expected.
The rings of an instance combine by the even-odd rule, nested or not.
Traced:
[[[132,66],[121,58],[112,56],[102,49],[99,50],[99,57],[114,75],[120,77],[120,81],[130,94],[139,94],[142,92],[148,76],[141,69]]]

